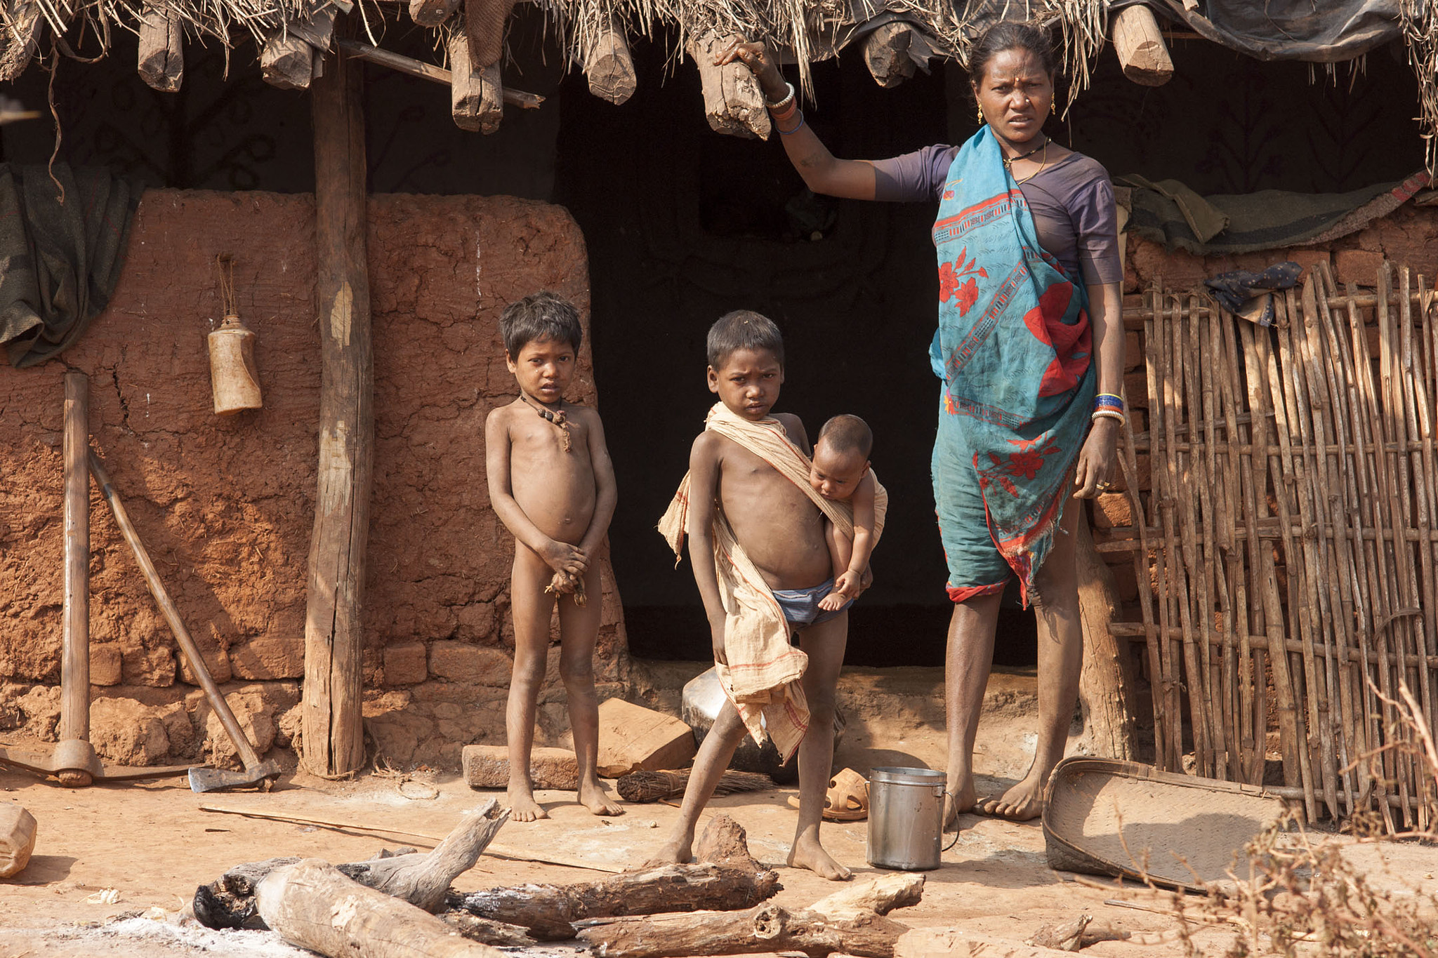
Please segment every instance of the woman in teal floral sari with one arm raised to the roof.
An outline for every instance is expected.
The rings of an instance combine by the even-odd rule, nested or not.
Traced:
[[[1034,26],[998,23],[969,55],[984,125],[962,147],[880,161],[837,159],[804,122],[762,43],[741,43],[784,149],[814,192],[939,201],[942,381],[933,494],[953,602],[945,656],[945,823],[959,811],[1032,819],[1063,758],[1078,697],[1083,632],[1074,573],[1077,508],[1109,487],[1123,422],[1123,264],[1109,175],[1044,134],[1054,53]],[[1038,615],[1038,741],[1022,781],[978,799],[972,757],[994,659],[999,599],[1017,576]]]

